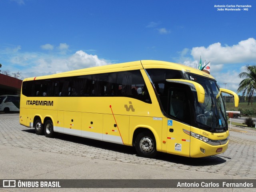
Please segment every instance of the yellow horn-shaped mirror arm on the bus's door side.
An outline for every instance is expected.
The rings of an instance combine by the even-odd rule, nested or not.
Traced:
[[[191,88],[196,90],[198,102],[204,103],[204,94],[205,94],[204,88],[199,83],[190,81],[190,80],[184,80],[184,79],[166,79],[166,81],[171,83],[180,83],[180,84],[189,85]]]

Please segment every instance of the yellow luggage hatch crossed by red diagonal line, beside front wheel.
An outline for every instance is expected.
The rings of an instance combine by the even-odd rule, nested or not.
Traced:
[[[129,144],[129,116],[103,114],[103,141]]]

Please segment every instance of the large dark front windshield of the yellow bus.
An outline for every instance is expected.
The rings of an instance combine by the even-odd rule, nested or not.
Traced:
[[[222,132],[227,129],[227,119],[222,95],[218,98],[219,88],[214,80],[203,78],[194,74],[186,74],[186,77],[201,84],[205,91],[204,103],[197,101],[196,91],[193,89],[195,102],[196,122],[210,127],[211,131]]]

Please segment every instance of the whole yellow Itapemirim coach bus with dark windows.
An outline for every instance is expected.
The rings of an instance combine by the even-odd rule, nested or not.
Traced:
[[[181,64],[142,60],[26,78],[20,124],[134,146],[139,156],[204,157],[226,151],[229,131],[216,80]]]

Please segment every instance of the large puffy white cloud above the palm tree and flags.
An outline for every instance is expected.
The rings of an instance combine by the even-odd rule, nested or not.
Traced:
[[[194,59],[202,58],[216,64],[236,64],[255,62],[256,40],[248,38],[233,46],[222,46],[220,42],[205,47],[192,48],[191,55]]]

